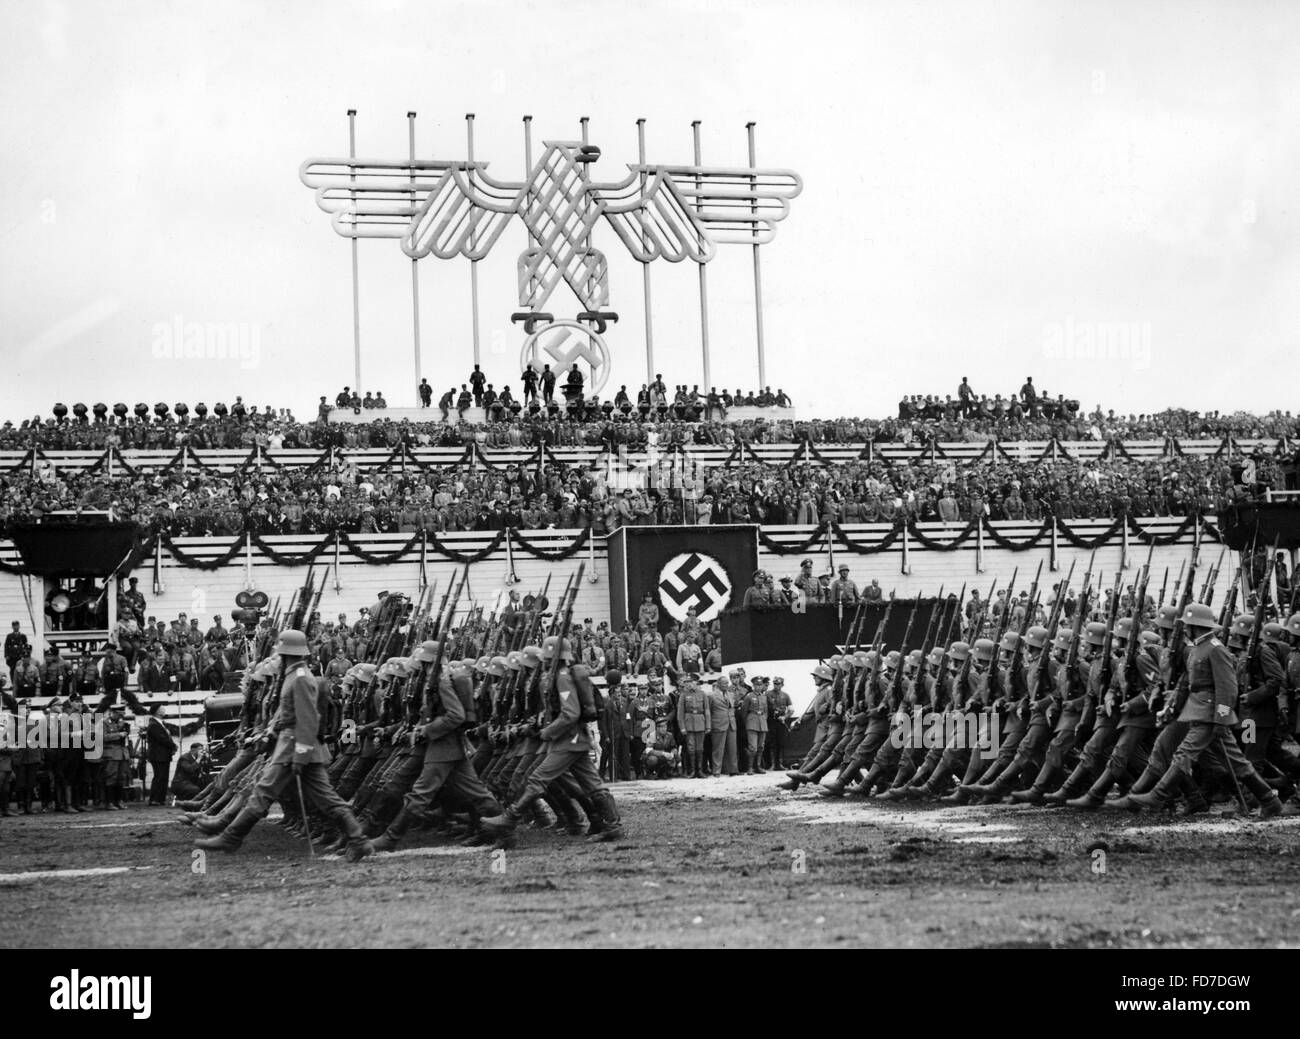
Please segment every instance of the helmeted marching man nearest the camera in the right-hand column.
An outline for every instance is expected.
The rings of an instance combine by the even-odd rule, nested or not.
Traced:
[[[1179,788],[1192,782],[1192,767],[1209,753],[1218,765],[1232,770],[1240,783],[1260,801],[1264,819],[1282,814],[1277,792],[1251,767],[1236,740],[1239,688],[1236,662],[1218,640],[1218,619],[1200,602],[1183,611],[1183,624],[1191,642],[1187,648],[1187,674],[1178,684],[1174,702],[1165,710],[1188,724],[1187,735],[1174,752],[1169,769],[1149,793],[1130,793],[1117,808],[1158,809],[1173,800]],[[1164,711],[1162,711],[1164,714]]]

